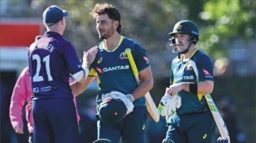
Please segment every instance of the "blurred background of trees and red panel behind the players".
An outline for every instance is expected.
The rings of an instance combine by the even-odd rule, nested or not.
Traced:
[[[95,3],[111,3],[122,15],[122,35],[141,43],[147,50],[154,76],[150,91],[158,105],[165,87],[169,86],[170,64],[177,54],[172,53],[168,33],[179,20],[192,20],[200,30],[196,47],[214,62],[214,91],[228,126],[232,143],[255,143],[255,74],[256,74],[256,1],[255,0],[1,0],[1,142],[27,142],[28,131],[17,135],[9,117],[10,98],[20,72],[28,66],[28,48],[35,36],[44,34],[42,13],[55,4],[69,12],[64,38],[76,47],[83,58],[100,42],[96,22],[89,15]],[[83,142],[96,138],[95,96],[97,82],[77,97],[81,116]],[[90,113],[90,114],[89,114]],[[167,127],[164,118],[159,123],[148,116],[147,143],[163,140]],[[216,131],[218,137],[218,131]]]

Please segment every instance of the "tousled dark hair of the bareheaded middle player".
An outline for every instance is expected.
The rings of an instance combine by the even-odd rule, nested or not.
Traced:
[[[96,19],[99,15],[108,14],[109,19],[119,21],[119,26],[116,28],[116,31],[118,33],[121,33],[122,28],[123,28],[123,26],[121,24],[121,15],[120,15],[119,11],[117,10],[117,8],[115,8],[111,4],[97,3],[97,4],[95,4],[95,7],[90,12],[90,14],[92,15],[93,19]]]

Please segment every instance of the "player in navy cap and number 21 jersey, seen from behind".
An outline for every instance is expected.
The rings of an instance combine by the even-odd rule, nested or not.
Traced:
[[[29,47],[34,142],[79,142],[76,107],[69,75],[83,83],[97,47],[84,52],[83,65],[73,45],[62,38],[68,12],[49,6],[43,14],[47,28],[40,40]]]

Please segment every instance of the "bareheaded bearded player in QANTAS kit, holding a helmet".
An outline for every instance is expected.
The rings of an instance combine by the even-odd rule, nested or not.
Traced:
[[[96,29],[99,38],[103,41],[98,44],[99,52],[91,65],[86,82],[72,85],[76,87],[72,91],[76,91],[74,94],[82,93],[97,76],[99,84],[97,106],[99,109],[102,95],[111,93],[111,91],[118,91],[127,95],[126,97],[134,105],[133,111],[128,112],[117,123],[105,123],[99,118],[97,123],[98,139],[107,139],[117,143],[122,137],[123,143],[143,143],[145,142],[147,119],[144,95],[152,89],[154,84],[146,51],[136,41],[120,35],[123,27],[121,16],[119,11],[111,4],[96,4],[91,11],[91,15],[96,19]],[[140,86],[134,78],[129,59],[125,54],[127,48],[131,49],[134,61],[138,66],[141,79]],[[127,109],[129,108],[127,107]],[[111,118],[110,116],[109,118]],[[100,140],[97,140],[97,142],[100,142]]]

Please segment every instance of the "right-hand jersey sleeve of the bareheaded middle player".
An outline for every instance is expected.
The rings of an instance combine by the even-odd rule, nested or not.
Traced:
[[[134,61],[139,72],[150,66],[146,50],[136,42],[134,43]]]

